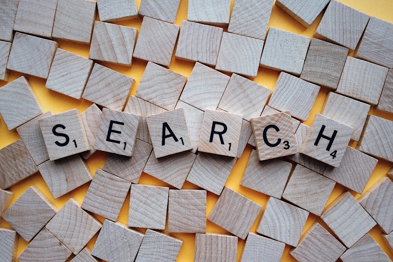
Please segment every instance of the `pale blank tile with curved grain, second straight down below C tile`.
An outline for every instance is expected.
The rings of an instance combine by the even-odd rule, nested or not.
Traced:
[[[309,212],[269,197],[257,232],[288,245],[297,246]]]

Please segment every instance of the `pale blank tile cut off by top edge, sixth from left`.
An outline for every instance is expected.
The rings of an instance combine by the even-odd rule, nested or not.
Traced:
[[[187,20],[212,26],[228,26],[230,4],[229,0],[189,0]]]

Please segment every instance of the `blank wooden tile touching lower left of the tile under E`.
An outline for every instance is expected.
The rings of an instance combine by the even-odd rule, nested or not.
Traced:
[[[131,182],[97,169],[81,207],[116,221],[130,186]]]

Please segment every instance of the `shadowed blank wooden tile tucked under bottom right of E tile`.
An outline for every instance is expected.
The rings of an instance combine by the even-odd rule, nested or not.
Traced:
[[[104,171],[137,184],[143,168],[152,152],[153,146],[137,139],[132,157],[125,155],[109,154],[105,161]]]

